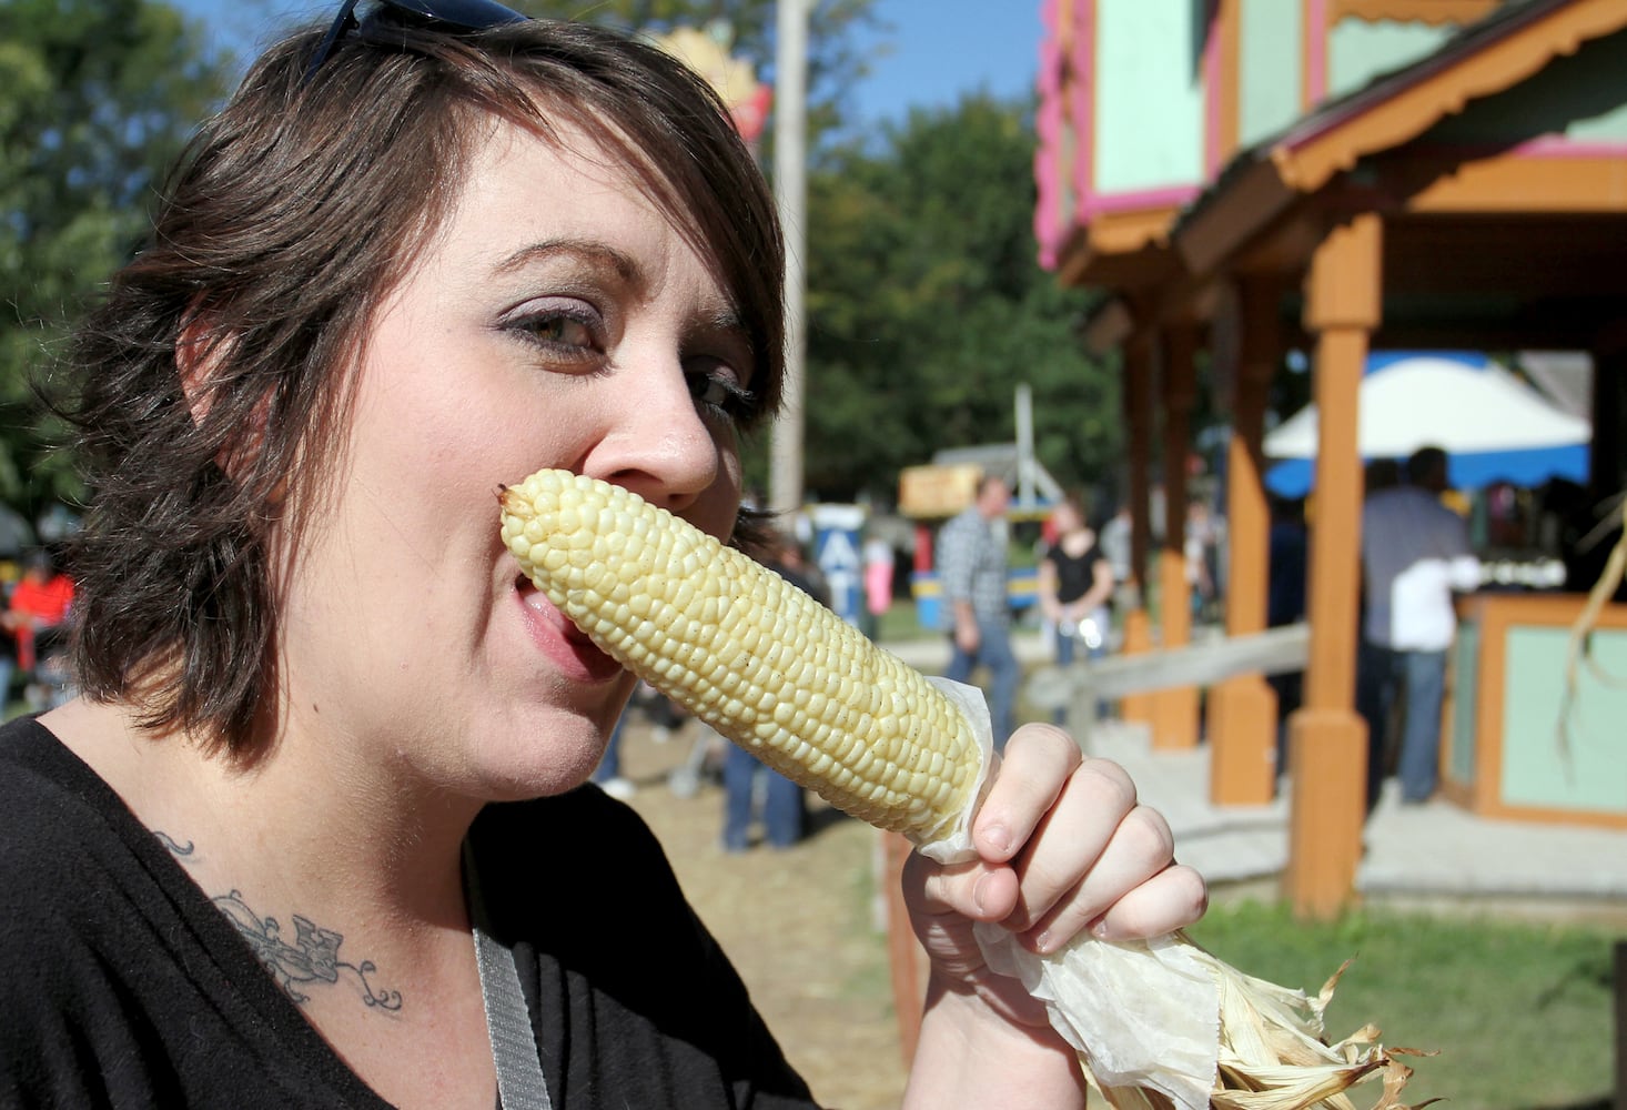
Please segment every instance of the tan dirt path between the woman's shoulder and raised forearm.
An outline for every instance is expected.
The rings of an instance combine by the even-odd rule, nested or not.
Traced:
[[[703,780],[680,798],[667,781],[698,734],[691,721],[656,744],[635,716],[622,741],[633,807],[815,1097],[841,1110],[898,1107],[905,1068],[877,900],[880,833],[810,798],[814,833],[802,845],[724,854],[722,789]]]

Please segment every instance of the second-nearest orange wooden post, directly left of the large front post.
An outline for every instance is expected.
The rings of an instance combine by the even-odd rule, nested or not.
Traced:
[[[1271,513],[1266,508],[1266,387],[1282,355],[1277,285],[1238,286],[1240,329],[1232,439],[1227,444],[1225,630],[1266,628]],[[1209,801],[1264,806],[1277,789],[1277,693],[1263,674],[1240,674],[1209,692]]]

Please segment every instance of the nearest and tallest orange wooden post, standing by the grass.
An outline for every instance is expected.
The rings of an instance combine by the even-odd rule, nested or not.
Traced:
[[[1357,405],[1383,306],[1383,225],[1372,212],[1334,228],[1311,257],[1305,326],[1316,334],[1316,490],[1310,534],[1311,627],[1305,708],[1289,721],[1293,802],[1284,889],[1295,913],[1329,918],[1355,897],[1367,817],[1367,724],[1355,713],[1362,459]]]

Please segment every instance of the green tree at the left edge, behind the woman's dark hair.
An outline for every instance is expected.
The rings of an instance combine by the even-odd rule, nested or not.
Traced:
[[[31,516],[76,492],[31,381],[137,247],[159,174],[223,73],[168,3],[0,5],[0,500]]]

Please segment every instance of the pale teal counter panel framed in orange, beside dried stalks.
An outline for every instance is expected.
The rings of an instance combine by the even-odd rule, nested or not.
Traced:
[[[1627,631],[1593,635],[1607,682],[1581,669],[1560,739],[1565,628],[1510,628],[1503,680],[1503,768],[1508,806],[1627,812]]]

